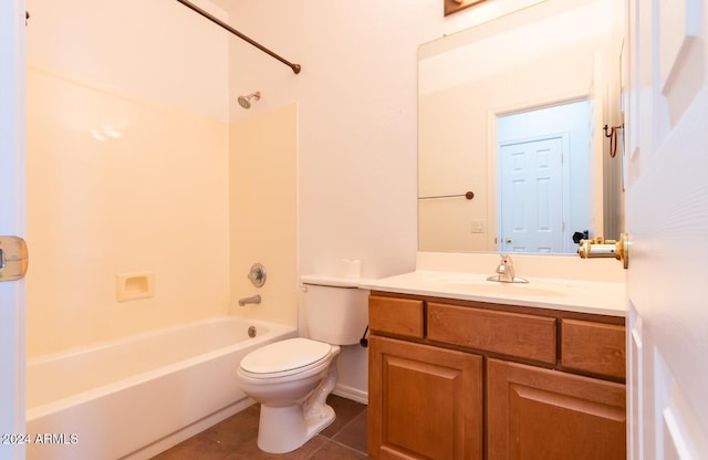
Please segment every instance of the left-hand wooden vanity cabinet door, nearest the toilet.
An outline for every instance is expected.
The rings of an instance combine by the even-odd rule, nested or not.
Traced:
[[[372,459],[482,458],[482,358],[369,338]]]

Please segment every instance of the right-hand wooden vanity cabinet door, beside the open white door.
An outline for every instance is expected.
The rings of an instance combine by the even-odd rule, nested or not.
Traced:
[[[626,458],[625,386],[487,362],[489,460]]]

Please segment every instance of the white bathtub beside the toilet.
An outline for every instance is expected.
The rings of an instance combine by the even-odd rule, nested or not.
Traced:
[[[295,335],[222,316],[28,360],[27,459],[148,459],[251,405],[241,358]]]

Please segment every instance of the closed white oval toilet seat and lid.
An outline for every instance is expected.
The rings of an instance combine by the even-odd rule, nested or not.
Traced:
[[[240,370],[252,378],[279,378],[301,374],[329,362],[332,346],[304,337],[262,346],[243,357]]]

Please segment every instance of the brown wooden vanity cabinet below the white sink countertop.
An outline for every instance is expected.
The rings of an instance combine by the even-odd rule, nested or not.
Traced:
[[[372,459],[624,459],[624,317],[369,296]]]

